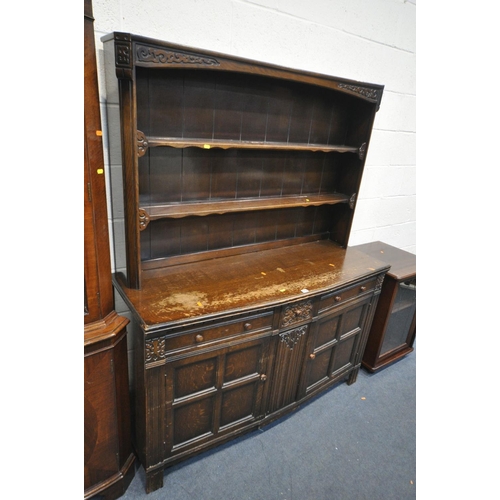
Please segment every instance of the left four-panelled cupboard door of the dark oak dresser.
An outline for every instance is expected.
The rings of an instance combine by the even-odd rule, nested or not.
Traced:
[[[269,338],[167,364],[167,450],[184,451],[262,414]]]

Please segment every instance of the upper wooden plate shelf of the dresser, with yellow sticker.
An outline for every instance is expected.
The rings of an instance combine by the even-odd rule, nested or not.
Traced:
[[[325,153],[358,153],[360,148],[331,144],[304,144],[291,142],[262,142],[218,139],[179,139],[175,137],[146,137],[143,138],[146,147],[168,146],[172,148],[202,148],[202,149],[273,149],[284,151],[322,151]]]

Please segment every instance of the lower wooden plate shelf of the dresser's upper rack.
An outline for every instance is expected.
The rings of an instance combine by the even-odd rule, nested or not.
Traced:
[[[286,197],[266,197],[221,201],[198,201],[190,203],[176,203],[170,205],[143,205],[150,220],[180,219],[182,217],[205,216],[211,214],[225,214],[229,212],[248,212],[255,210],[276,210],[293,207],[316,207],[320,205],[335,205],[348,203],[349,197],[345,194],[320,194]]]

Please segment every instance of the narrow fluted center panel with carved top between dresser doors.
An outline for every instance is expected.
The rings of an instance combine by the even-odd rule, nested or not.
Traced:
[[[266,413],[273,413],[297,400],[309,325],[280,333],[276,338],[274,373]]]

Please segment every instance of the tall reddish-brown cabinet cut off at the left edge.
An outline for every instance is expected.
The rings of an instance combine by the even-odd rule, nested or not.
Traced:
[[[121,496],[134,475],[126,326],[113,309],[92,4],[84,9],[84,498]]]

